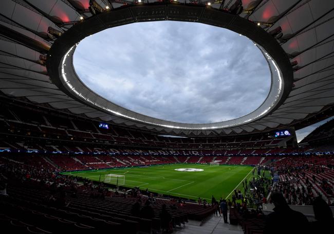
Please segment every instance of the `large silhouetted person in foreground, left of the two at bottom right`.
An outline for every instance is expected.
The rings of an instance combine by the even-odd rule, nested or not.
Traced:
[[[266,218],[264,234],[296,234],[308,233],[309,223],[304,214],[292,210],[282,193],[271,194],[271,202],[275,205],[274,212]]]

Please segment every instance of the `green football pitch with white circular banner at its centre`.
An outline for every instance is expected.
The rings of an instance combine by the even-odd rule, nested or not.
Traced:
[[[240,165],[172,164],[150,167],[104,169],[93,171],[65,172],[93,181],[104,181],[107,174],[125,175],[123,186],[134,186],[145,190],[196,200],[198,197],[211,201],[211,196],[230,198],[235,188],[242,187],[242,181],[253,176],[254,167]],[[123,181],[122,181],[123,182]],[[112,184],[115,184],[113,182]]]

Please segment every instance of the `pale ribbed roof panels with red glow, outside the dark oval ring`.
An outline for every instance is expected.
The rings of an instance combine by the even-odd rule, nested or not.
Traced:
[[[124,7],[123,2],[97,2],[102,8],[106,4],[113,8]],[[127,2],[128,5],[135,3]],[[224,2],[221,8],[229,9],[235,1]],[[189,136],[247,134],[293,127],[291,124],[333,105],[334,1],[244,0],[243,6],[245,11],[240,16],[255,23],[261,22],[260,27],[264,30],[269,32],[279,26],[282,28],[283,35],[277,38],[277,42],[290,61],[297,63],[293,67],[294,87],[287,99],[275,111],[255,122],[212,131],[170,129],[111,115],[68,97],[50,82],[41,58],[57,40],[48,32],[49,27],[63,33],[79,22],[80,16],[85,19],[95,17],[88,10],[89,0],[1,1],[0,91],[10,97],[26,97],[33,103],[48,103],[54,109],[68,110],[87,118],[140,130]],[[213,3],[211,7],[219,8],[220,2]],[[133,16],[129,13],[127,17]]]

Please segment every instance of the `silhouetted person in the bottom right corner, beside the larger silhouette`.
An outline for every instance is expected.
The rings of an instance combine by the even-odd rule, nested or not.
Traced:
[[[333,231],[333,213],[328,204],[318,196],[313,202],[314,218],[311,222],[312,233],[330,233]],[[331,230],[331,231],[329,231]]]

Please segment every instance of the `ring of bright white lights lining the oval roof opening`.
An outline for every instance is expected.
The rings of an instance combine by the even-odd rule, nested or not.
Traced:
[[[132,8],[134,8],[134,7],[132,7]],[[205,9],[205,11],[208,11],[208,9]],[[210,9],[209,9],[209,11],[210,11]],[[220,13],[224,13],[224,12],[220,12]],[[107,13],[104,13],[104,14],[107,14]],[[227,13],[224,13],[224,14],[227,14]],[[230,14],[228,14],[228,15],[230,15]],[[153,21],[149,17],[150,16],[148,16],[147,20]],[[166,19],[167,19],[167,17],[168,16],[166,16]],[[238,16],[233,16],[233,17],[238,17]],[[101,21],[101,19],[99,19],[99,21]],[[247,22],[248,24],[252,24],[248,21],[245,21],[245,22]],[[245,22],[243,22],[243,23],[245,23]],[[83,22],[83,23],[85,23],[85,22]],[[128,23],[133,23],[133,22],[128,22]],[[203,23],[203,22],[201,22],[201,23]],[[73,28],[75,28],[75,27],[76,26],[73,26]],[[82,26],[81,26],[81,28],[82,28]],[[256,28],[258,28],[258,27],[256,27]],[[68,31],[70,31],[70,30],[71,29],[69,29]],[[103,30],[103,29],[97,29],[97,31],[100,31],[100,30]],[[66,32],[66,33],[68,33],[68,32]],[[64,34],[66,34],[66,33],[64,33]],[[240,33],[240,32],[238,31],[238,33]],[[82,38],[84,38],[84,37],[82,37]],[[272,40],[274,41],[274,39],[272,39]],[[133,121],[137,121],[137,122],[141,122],[141,123],[145,123],[145,124],[150,124],[150,125],[155,125],[155,126],[161,127],[161,128],[178,129],[178,130],[225,129],[225,128],[237,127],[239,125],[244,125],[244,124],[247,124],[247,123],[250,123],[250,122],[254,122],[257,119],[263,118],[264,116],[266,116],[270,112],[272,112],[272,110],[275,109],[277,104],[282,101],[281,99],[282,99],[283,93],[285,93],[284,96],[287,96],[286,92],[284,90],[285,81],[284,81],[284,77],[282,75],[282,71],[280,69],[280,66],[273,59],[274,56],[271,56],[269,54],[269,52],[267,52],[265,50],[264,47],[260,46],[255,41],[255,45],[262,51],[265,59],[268,62],[268,65],[269,65],[269,68],[270,68],[270,71],[271,71],[271,89],[270,89],[270,92],[269,92],[266,100],[263,102],[263,104],[261,106],[258,107],[258,109],[256,109],[255,111],[253,111],[250,114],[247,114],[243,117],[239,117],[239,118],[236,118],[236,119],[232,119],[232,120],[228,120],[228,121],[222,121],[222,122],[216,122],[216,123],[203,123],[203,124],[178,123],[178,122],[166,121],[166,120],[162,120],[162,119],[157,119],[157,118],[145,116],[145,115],[142,115],[142,114],[139,114],[139,113],[136,113],[136,112],[129,111],[129,110],[125,109],[124,107],[118,106],[118,105],[106,100],[105,98],[103,98],[103,97],[97,95],[95,92],[91,91],[80,80],[80,78],[77,76],[77,74],[75,72],[75,69],[73,68],[73,64],[72,64],[72,56],[73,56],[75,48],[76,48],[76,46],[78,45],[79,42],[80,42],[80,40],[78,40],[77,43],[75,43],[71,47],[67,47],[68,49],[67,49],[66,53],[61,57],[61,60],[60,60],[61,63],[60,63],[59,68],[58,68],[58,74],[59,74],[58,78],[60,78],[60,82],[59,82],[59,79],[58,79],[56,83],[58,83],[58,84],[61,83],[63,85],[63,87],[66,89],[66,93],[69,93],[72,97],[76,97],[76,99],[80,100],[81,102],[84,102],[89,106],[95,107],[95,109],[99,109],[99,110],[101,110],[105,113],[116,115],[116,116],[126,118],[126,119],[129,119],[129,120],[133,120]],[[274,41],[274,42],[277,43],[276,41]],[[57,45],[57,41],[54,44]],[[53,46],[51,47],[51,51],[52,51],[52,49],[53,49]],[[281,67],[282,67],[282,60],[287,59],[287,58],[283,58],[283,59],[279,58],[279,59],[280,59],[279,61],[281,63]],[[287,61],[288,61],[288,59],[287,59]],[[48,61],[47,61],[47,66],[48,67],[50,67],[50,63],[48,63]],[[56,67],[54,67],[54,68],[56,68]],[[292,74],[292,72],[291,72],[291,74]],[[51,77],[51,79],[53,77],[52,80],[54,80],[54,76],[50,75],[50,77]],[[64,90],[64,88],[62,88],[62,89]]]

